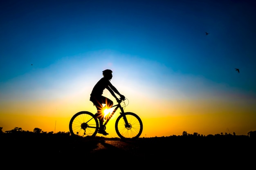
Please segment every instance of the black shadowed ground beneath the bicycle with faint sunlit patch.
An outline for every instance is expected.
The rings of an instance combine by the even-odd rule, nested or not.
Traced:
[[[255,167],[248,136],[170,136],[121,140],[66,134],[2,134],[1,166],[9,168],[184,169]],[[254,169],[254,168],[252,168]]]

